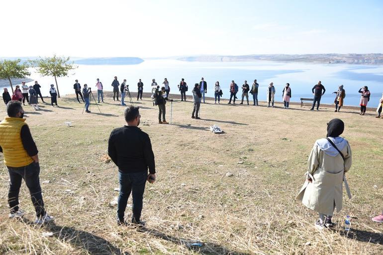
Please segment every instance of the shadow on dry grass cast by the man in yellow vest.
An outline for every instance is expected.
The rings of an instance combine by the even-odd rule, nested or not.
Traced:
[[[36,226],[33,222],[23,219],[27,225]],[[53,237],[64,243],[70,243],[73,246],[84,249],[90,255],[130,255],[128,252],[121,252],[120,249],[113,246],[102,237],[92,233],[76,230],[71,227],[58,226],[54,222],[41,225],[45,231],[52,232]]]

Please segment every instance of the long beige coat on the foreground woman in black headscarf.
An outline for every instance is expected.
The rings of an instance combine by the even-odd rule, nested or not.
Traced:
[[[296,197],[307,208],[325,215],[333,215],[335,208],[338,212],[342,209],[343,175],[351,168],[352,163],[348,141],[340,137],[335,141],[334,138],[330,139],[338,148],[343,143],[341,152],[345,160],[332,146],[322,150],[320,144],[325,144],[326,141],[317,140],[308,158],[307,176],[312,178],[312,182],[306,179]]]

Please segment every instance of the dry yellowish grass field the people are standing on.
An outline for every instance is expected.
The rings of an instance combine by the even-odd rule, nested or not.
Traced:
[[[91,114],[82,114],[83,104],[73,96],[59,98],[60,107],[25,106],[39,149],[44,202],[56,220],[32,224],[24,183],[24,220],[8,219],[8,172],[1,155],[0,254],[383,254],[383,225],[371,221],[383,210],[383,119],[374,118],[375,112],[360,116],[355,109],[312,112],[298,105],[286,110],[281,104],[267,108],[223,100],[202,104],[202,120],[194,120],[190,100],[173,102],[172,125],[158,124],[150,98],[134,101],[157,169],[157,182],[146,186],[142,230],[117,226],[116,207],[109,206],[118,181],[107,140],[113,128],[124,125],[124,107],[109,97],[100,104],[102,113],[92,105]],[[168,121],[170,108],[168,102]],[[348,173],[353,198],[344,194],[344,208],[334,216],[339,227],[320,232],[314,228],[317,214],[295,195],[314,141],[326,136],[326,123],[335,117],[345,122],[343,136],[353,150]],[[211,133],[213,124],[224,134]],[[129,208],[127,213],[130,217]],[[343,231],[347,214],[353,217],[350,232]],[[195,242],[202,246],[192,246]]]

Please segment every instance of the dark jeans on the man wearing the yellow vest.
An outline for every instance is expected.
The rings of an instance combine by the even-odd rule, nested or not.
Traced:
[[[7,167],[9,173],[9,191],[8,191],[8,204],[10,212],[18,211],[18,194],[20,191],[21,181],[24,179],[26,186],[31,195],[32,204],[36,211],[36,216],[40,217],[45,214],[44,201],[41,194],[40,186],[40,165],[32,162],[28,166],[21,168]]]

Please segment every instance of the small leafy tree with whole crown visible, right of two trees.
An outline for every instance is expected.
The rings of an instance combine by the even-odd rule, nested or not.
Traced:
[[[53,57],[40,58],[33,60],[31,63],[36,67],[38,73],[42,76],[53,76],[55,78],[57,95],[60,97],[59,86],[57,84],[57,77],[68,76],[70,70],[75,69],[74,63],[69,63],[69,57]]]

